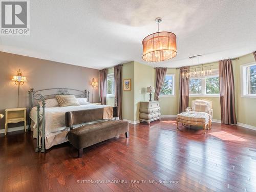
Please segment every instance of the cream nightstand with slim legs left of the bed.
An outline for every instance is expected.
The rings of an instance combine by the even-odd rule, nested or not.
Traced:
[[[26,111],[27,108],[12,108],[5,110],[5,135],[7,134],[8,123],[24,121],[24,130],[26,132]]]

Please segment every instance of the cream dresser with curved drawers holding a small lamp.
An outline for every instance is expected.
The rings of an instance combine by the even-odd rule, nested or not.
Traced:
[[[140,122],[145,121],[150,124],[161,118],[159,101],[140,102]]]

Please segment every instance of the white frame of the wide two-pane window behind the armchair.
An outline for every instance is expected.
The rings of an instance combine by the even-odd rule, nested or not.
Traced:
[[[218,69],[212,69],[212,71],[219,71]],[[206,78],[212,78],[212,77],[219,77],[219,74],[212,74],[212,75],[207,75],[204,77],[193,77],[193,78],[189,78],[189,83],[190,83],[190,79],[201,79],[201,94],[197,94],[197,93],[189,93],[189,97],[220,97],[220,93],[206,93]]]

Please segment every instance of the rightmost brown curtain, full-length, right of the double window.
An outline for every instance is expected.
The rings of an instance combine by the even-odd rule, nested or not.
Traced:
[[[219,61],[221,123],[237,124],[234,106],[234,76],[232,60]]]

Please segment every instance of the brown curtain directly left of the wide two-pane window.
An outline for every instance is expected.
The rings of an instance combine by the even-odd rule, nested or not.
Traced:
[[[182,113],[188,107],[189,100],[189,78],[182,78],[182,73],[189,72],[189,67],[180,68],[180,103],[179,113]]]

